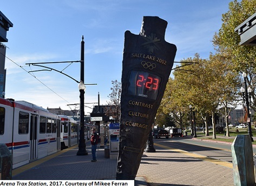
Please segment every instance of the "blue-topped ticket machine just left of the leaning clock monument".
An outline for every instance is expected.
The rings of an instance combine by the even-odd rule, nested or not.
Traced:
[[[119,123],[109,123],[109,156],[110,159],[117,159],[117,154],[119,152]]]

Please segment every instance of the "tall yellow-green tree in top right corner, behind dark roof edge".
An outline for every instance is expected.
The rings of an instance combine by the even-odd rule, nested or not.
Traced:
[[[256,1],[237,0],[229,3],[228,12],[222,15],[222,25],[218,33],[213,37],[216,51],[228,56],[233,65],[231,70],[246,72],[247,82],[252,88],[252,108],[255,111],[255,85],[256,85],[256,46],[239,45],[240,37],[234,29],[256,12]]]

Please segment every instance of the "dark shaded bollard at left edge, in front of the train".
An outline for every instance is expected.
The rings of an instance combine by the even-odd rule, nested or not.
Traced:
[[[0,143],[0,180],[12,180],[12,154],[4,143]]]

